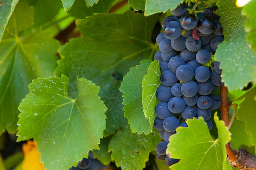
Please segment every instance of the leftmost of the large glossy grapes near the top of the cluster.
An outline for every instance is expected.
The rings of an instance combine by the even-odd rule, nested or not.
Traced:
[[[171,21],[166,24],[164,28],[164,36],[167,39],[176,39],[181,35],[182,28],[180,26],[180,22]]]

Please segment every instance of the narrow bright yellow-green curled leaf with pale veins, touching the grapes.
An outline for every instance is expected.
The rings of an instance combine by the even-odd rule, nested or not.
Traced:
[[[142,80],[142,105],[145,117],[149,119],[151,130],[153,128],[155,119],[155,106],[158,103],[158,99],[155,95],[157,88],[160,86],[161,71],[157,60],[153,61],[149,68],[148,74],[143,77]]]

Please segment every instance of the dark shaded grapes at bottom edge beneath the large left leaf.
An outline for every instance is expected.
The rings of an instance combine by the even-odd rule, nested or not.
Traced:
[[[83,158],[82,161],[79,161],[77,163],[77,166],[70,168],[69,170],[104,170],[107,169],[109,165],[104,165],[99,161],[97,158],[95,158],[92,154],[92,152],[89,152],[88,158]]]

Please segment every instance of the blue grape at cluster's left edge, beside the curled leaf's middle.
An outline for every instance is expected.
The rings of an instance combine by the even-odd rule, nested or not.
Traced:
[[[169,102],[173,97],[171,93],[171,87],[161,85],[157,88],[156,97],[160,102]]]

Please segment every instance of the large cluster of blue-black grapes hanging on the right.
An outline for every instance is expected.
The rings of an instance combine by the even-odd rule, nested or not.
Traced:
[[[166,156],[169,137],[179,126],[188,127],[186,119],[203,117],[209,130],[212,128],[211,110],[220,107],[220,97],[212,92],[222,86],[220,62],[213,61],[218,44],[223,41],[217,7],[203,13],[189,13],[193,8],[185,2],[170,12],[162,21],[164,31],[156,42],[160,51],[155,54],[161,69],[161,85],[156,97],[154,127],[163,139],[157,145],[157,158],[167,166],[179,159]]]

